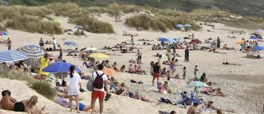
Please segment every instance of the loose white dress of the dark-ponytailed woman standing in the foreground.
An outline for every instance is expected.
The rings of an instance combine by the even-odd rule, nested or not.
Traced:
[[[67,86],[68,86],[68,95],[79,95],[79,83],[82,83],[81,77],[78,73],[74,73],[71,78],[70,74],[67,75]]]

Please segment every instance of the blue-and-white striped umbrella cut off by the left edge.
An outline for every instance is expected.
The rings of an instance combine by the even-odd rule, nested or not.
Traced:
[[[0,52],[0,63],[20,61],[28,58],[24,53],[15,50],[7,50]]]

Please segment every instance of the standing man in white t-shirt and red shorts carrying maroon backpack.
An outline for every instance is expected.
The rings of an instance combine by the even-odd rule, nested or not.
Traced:
[[[102,64],[98,65],[98,71],[97,71],[97,72],[98,72],[99,76],[101,76],[101,74],[104,73],[104,72],[102,71],[103,68],[104,68],[104,66],[103,66]],[[97,76],[98,76],[97,73],[94,72],[94,73],[93,73],[93,78],[94,78],[94,80],[95,80],[95,78],[96,78]],[[104,81],[104,87],[105,87],[107,93],[110,94],[109,91],[108,91],[108,88],[107,88],[107,81],[108,81],[108,80],[107,80],[106,75],[104,74],[104,75],[102,75],[101,77],[103,78],[103,81]],[[104,102],[103,102],[103,100],[104,100],[104,88],[102,88],[102,89],[98,89],[98,88],[95,88],[95,87],[94,87],[94,90],[92,91],[92,102],[91,102],[92,113],[91,113],[91,114],[94,113],[94,106],[95,106],[95,101],[96,101],[97,98],[99,98],[99,103],[100,103],[100,114],[102,114],[102,113],[103,113],[103,107],[104,107],[104,104],[103,104],[103,103],[104,103]]]

